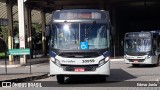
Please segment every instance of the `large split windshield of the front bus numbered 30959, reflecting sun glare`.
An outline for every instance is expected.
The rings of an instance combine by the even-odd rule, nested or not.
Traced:
[[[109,48],[109,28],[103,23],[54,23],[51,30],[51,47],[61,50]]]

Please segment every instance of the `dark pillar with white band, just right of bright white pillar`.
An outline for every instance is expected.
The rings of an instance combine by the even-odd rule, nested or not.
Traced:
[[[31,20],[31,8],[29,5],[26,7],[27,9],[27,46],[30,48],[30,56],[32,58],[33,48],[32,48],[32,20]]]

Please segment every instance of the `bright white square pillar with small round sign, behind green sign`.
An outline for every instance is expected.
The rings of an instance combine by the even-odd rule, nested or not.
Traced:
[[[18,0],[18,22],[19,22],[19,41],[20,49],[25,49],[25,14],[24,14],[24,0]],[[20,57],[20,63],[26,64],[26,56]]]

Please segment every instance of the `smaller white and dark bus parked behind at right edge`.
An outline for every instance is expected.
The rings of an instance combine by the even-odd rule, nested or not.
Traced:
[[[124,37],[124,61],[133,66],[160,62],[160,36],[156,31],[128,32]]]

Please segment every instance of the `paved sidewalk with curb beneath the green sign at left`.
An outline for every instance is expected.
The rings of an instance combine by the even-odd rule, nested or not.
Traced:
[[[31,74],[30,74],[31,60]],[[5,61],[0,59],[0,82],[13,81],[24,82],[48,77],[49,58],[28,59],[26,65],[21,65],[19,61],[7,62],[7,74]]]

